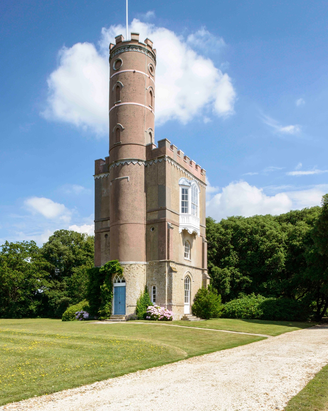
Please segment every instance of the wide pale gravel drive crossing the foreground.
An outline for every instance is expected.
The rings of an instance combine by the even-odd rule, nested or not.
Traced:
[[[327,363],[328,326],[315,326],[0,410],[282,410]]]

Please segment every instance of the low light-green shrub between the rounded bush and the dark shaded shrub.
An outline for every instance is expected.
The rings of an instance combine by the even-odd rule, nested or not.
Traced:
[[[224,305],[223,318],[260,319],[263,315],[261,303],[266,300],[263,296],[251,294],[236,298]]]

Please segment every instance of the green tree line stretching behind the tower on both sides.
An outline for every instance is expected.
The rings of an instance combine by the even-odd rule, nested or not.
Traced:
[[[223,303],[276,298],[289,309],[297,302],[308,318],[319,320],[326,313],[328,194],[321,207],[277,216],[220,222],[207,217],[206,237],[210,283]],[[55,231],[42,247],[34,241],[6,241],[0,251],[0,318],[61,318],[68,307],[88,296],[92,300],[95,292],[105,309],[111,290],[105,282],[98,284],[93,257],[93,236],[75,231]]]

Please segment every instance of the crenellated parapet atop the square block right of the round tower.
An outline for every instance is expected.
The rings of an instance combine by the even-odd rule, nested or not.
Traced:
[[[151,160],[163,155],[166,155],[173,159],[176,163],[180,164],[188,173],[194,175],[199,180],[205,182],[206,170],[202,169],[199,164],[196,164],[194,160],[191,160],[182,150],[178,150],[174,144],[168,139],[162,139],[157,141],[158,147],[155,144],[146,145],[146,159]]]

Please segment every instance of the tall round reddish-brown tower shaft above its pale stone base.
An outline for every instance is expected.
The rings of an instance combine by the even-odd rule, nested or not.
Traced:
[[[149,39],[139,42],[139,33],[115,40],[109,56],[110,259],[137,268],[146,261],[144,162],[146,145],[154,142],[156,51]]]

